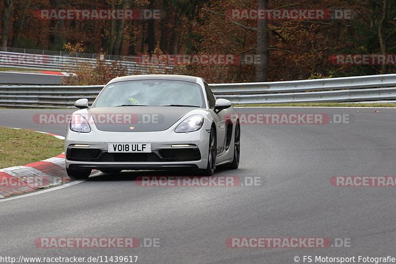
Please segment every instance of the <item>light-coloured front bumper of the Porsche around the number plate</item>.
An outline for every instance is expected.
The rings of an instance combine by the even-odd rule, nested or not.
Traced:
[[[204,169],[208,138],[203,129],[190,133],[68,131],[65,163],[66,168],[73,169]],[[151,153],[108,153],[108,143],[151,143]],[[190,146],[172,147],[180,144]]]

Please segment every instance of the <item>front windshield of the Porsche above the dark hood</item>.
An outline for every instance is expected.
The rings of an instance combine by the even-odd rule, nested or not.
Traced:
[[[204,107],[197,83],[172,80],[136,80],[107,85],[92,107],[196,106]]]

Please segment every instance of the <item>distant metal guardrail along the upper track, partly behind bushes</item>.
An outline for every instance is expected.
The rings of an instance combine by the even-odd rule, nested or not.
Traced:
[[[119,63],[126,68],[128,75],[132,74],[147,74],[152,70],[157,73],[172,72],[174,67],[168,65],[148,65],[137,63],[134,61],[134,57],[128,57],[133,59],[119,60]],[[106,64],[111,64],[115,60],[104,60]],[[78,65],[95,66],[97,63],[96,59],[84,58],[78,56],[70,56],[64,54],[58,55],[46,55],[46,54],[32,54],[32,53],[12,53],[12,52],[0,52],[0,66],[1,67],[17,67],[26,69],[38,69],[38,70],[55,70],[55,71],[70,71],[76,68]]]

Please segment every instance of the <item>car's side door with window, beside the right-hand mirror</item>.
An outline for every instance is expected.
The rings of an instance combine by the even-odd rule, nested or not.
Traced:
[[[205,85],[205,92],[207,101],[209,104],[210,112],[212,113],[213,118],[216,120],[217,123],[217,156],[220,156],[225,151],[226,145],[226,131],[227,131],[227,124],[225,120],[226,111],[220,111],[219,113],[214,112],[214,106],[216,104],[216,98],[213,95],[212,91],[209,88],[207,83]]]

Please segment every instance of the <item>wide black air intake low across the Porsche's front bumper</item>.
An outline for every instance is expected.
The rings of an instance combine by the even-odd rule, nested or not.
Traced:
[[[98,149],[68,148],[68,160],[76,161],[119,161],[119,162],[156,162],[192,161],[201,158],[198,148],[178,148],[153,151],[151,153],[108,153]]]

